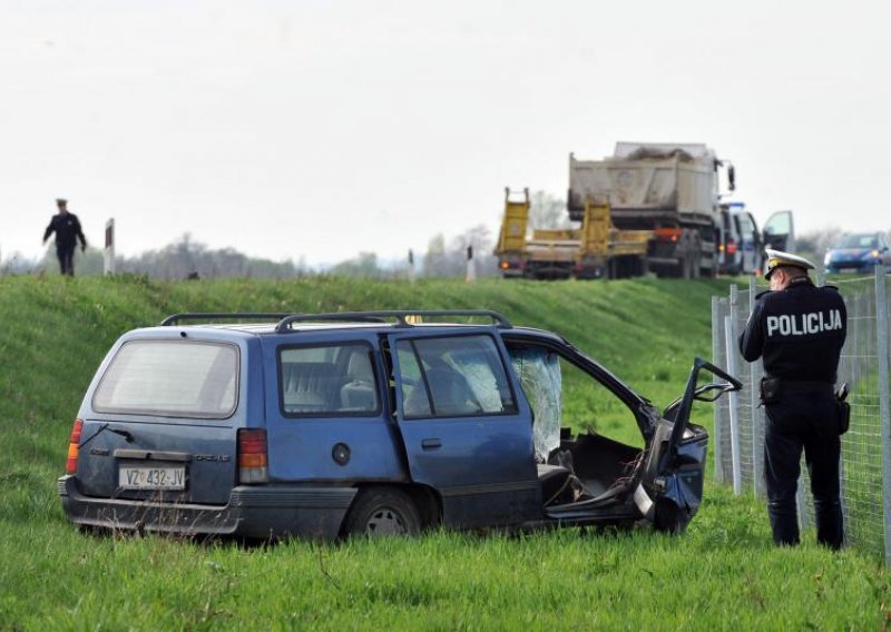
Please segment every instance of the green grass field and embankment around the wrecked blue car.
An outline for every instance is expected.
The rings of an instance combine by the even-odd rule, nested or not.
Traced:
[[[82,535],[56,495],[71,421],[108,346],[169,313],[498,309],[562,333],[664,405],[693,356],[708,357],[709,298],[726,289],[655,279],[0,278],[0,630],[884,629],[891,576],[881,560],[823,551],[812,533],[775,550],[761,504],[711,483],[681,537],[434,532],[263,546]],[[711,426],[711,408],[696,416]]]

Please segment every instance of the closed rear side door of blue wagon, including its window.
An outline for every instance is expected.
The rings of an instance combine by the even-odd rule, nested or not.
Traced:
[[[447,525],[510,525],[541,515],[529,405],[487,332],[389,337],[396,422],[415,483]]]

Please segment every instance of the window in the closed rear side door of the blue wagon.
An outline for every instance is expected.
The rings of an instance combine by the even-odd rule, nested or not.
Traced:
[[[396,355],[405,418],[517,412],[505,366],[490,336],[400,340]]]

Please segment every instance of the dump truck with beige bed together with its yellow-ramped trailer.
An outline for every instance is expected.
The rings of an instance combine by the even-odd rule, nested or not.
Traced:
[[[618,142],[603,160],[569,155],[568,229],[529,228],[529,191],[506,190],[496,255],[506,278],[714,276],[719,171],[733,165],[702,144]]]

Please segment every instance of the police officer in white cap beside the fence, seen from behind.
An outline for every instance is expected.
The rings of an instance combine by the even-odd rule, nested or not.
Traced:
[[[761,397],[767,414],[764,462],[773,541],[799,543],[795,492],[803,450],[814,497],[816,540],[839,549],[844,530],[834,385],[848,313],[838,288],[811,283],[807,270],[814,266],[809,260],[770,248],[766,253],[764,277],[771,289],[757,295],[740,349],[748,362],[760,357],[764,362]]]

